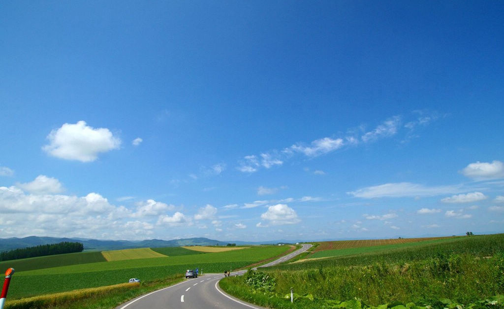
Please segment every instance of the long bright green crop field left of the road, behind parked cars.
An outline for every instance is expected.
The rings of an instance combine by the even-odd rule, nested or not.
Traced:
[[[282,254],[287,246],[258,246],[235,251],[169,256],[166,258],[98,262],[16,271],[9,298],[99,287],[127,282],[130,278],[151,281],[198,267],[200,272],[221,273]],[[21,261],[21,260],[20,260]]]

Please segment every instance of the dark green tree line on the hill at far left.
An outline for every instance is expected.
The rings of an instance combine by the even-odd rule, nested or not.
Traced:
[[[46,256],[64,253],[82,252],[84,245],[80,242],[64,241],[54,244],[44,244],[24,249],[14,249],[0,252],[0,261],[35,258],[36,256]]]

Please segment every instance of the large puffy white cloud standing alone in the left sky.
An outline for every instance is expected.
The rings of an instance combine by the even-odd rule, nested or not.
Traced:
[[[42,150],[50,156],[81,162],[91,162],[98,158],[98,153],[118,149],[121,140],[106,128],[94,129],[85,121],[76,124],[65,123],[59,129],[47,135],[49,144]]]

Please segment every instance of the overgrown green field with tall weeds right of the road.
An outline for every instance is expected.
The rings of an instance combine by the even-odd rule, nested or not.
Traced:
[[[384,305],[382,309],[402,304],[400,308],[406,309],[410,302],[439,309],[474,303],[473,308],[490,308],[491,301],[485,299],[504,295],[504,234],[345,251],[352,255],[283,264],[261,270],[259,280],[227,278],[221,287],[262,306],[303,309],[355,309],[364,304]],[[290,288],[306,297],[291,305],[283,298]],[[502,308],[502,301],[497,302],[494,308]]]

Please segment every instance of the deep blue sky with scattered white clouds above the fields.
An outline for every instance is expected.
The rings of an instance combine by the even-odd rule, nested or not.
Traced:
[[[500,2],[0,4],[0,237],[504,232]]]

